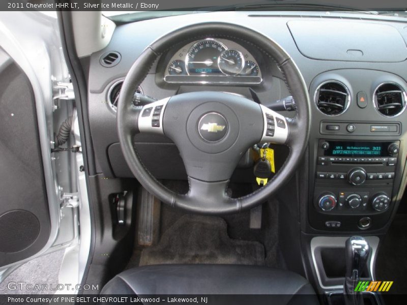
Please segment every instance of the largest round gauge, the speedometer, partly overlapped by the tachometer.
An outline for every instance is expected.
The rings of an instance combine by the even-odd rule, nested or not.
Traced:
[[[185,60],[188,74],[221,73],[218,58],[226,49],[222,43],[214,39],[197,42],[189,49]]]

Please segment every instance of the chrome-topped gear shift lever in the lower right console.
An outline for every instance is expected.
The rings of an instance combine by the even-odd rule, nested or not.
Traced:
[[[355,291],[362,270],[370,253],[369,243],[361,236],[352,236],[346,240],[346,275],[343,293],[346,305],[363,305],[361,292]]]

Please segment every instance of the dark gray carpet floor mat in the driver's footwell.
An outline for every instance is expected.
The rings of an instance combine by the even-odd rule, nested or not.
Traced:
[[[197,263],[264,265],[265,250],[257,241],[229,238],[220,217],[184,215],[140,258],[140,266]]]

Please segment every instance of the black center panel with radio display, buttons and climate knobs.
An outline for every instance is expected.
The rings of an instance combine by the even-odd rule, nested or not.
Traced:
[[[358,231],[386,224],[399,141],[319,139],[310,224]]]

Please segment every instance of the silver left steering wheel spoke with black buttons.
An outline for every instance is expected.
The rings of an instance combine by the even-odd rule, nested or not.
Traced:
[[[170,97],[147,104],[139,110],[137,117],[139,133],[164,134],[163,117],[169,99]]]

